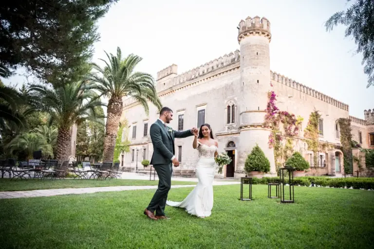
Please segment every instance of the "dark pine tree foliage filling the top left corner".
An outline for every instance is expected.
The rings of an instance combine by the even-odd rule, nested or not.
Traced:
[[[97,20],[118,0],[11,0],[0,5],[0,76],[24,66],[64,84],[88,71]]]

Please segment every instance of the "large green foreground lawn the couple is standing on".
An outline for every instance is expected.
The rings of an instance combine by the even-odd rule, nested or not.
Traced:
[[[172,189],[182,200],[192,188]],[[215,186],[205,219],[167,207],[171,220],[143,214],[154,190],[0,200],[3,248],[370,248],[374,192],[295,187],[294,204],[267,198],[253,186],[240,201],[239,185]]]

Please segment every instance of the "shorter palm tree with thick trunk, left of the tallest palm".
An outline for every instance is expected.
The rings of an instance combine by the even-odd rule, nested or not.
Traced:
[[[95,84],[79,81],[63,86],[49,87],[46,84],[30,86],[32,104],[50,114],[57,124],[57,160],[68,160],[71,149],[70,128],[86,119],[96,120],[97,106],[103,106],[93,91]]]

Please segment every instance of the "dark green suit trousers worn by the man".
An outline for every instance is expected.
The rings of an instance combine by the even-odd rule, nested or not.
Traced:
[[[153,168],[158,175],[158,188],[150,200],[147,209],[152,213],[156,211],[156,216],[164,216],[166,201],[171,188],[172,163],[155,164]]]

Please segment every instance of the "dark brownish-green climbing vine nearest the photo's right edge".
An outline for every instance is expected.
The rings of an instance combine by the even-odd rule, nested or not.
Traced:
[[[338,124],[340,127],[340,143],[341,151],[344,154],[344,172],[346,174],[353,173],[352,164],[352,134],[351,134],[351,120],[347,118],[338,119]]]

